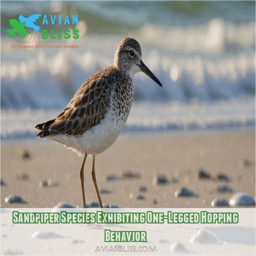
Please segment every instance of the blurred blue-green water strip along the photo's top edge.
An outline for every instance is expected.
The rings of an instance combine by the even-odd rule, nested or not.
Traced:
[[[59,13],[79,12],[81,18],[121,22],[140,27],[145,23],[167,26],[198,25],[213,17],[235,24],[254,21],[254,1],[60,1]],[[58,5],[58,4],[57,4]],[[59,8],[52,1],[1,1],[1,14],[28,7],[40,13]],[[93,24],[92,24],[93,25]],[[93,31],[92,31],[93,32]]]

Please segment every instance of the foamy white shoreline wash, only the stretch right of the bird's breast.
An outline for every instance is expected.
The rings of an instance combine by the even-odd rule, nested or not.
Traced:
[[[255,99],[135,103],[124,131],[222,129],[255,125]]]

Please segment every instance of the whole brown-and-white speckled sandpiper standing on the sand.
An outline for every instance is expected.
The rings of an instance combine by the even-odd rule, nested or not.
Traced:
[[[84,155],[80,168],[84,208],[83,169],[87,155],[92,156],[91,177],[99,206],[103,207],[95,177],[95,155],[105,151],[120,134],[131,107],[133,76],[138,71],[162,87],[143,63],[139,43],[125,37],[117,46],[113,65],[92,74],[57,117],[35,126],[41,130],[38,138],[50,138]]]

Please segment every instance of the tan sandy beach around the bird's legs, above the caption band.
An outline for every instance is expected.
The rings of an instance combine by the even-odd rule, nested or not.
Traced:
[[[25,151],[28,156],[22,157]],[[81,161],[82,157],[52,141],[2,143],[1,206],[53,207],[62,201],[81,206]],[[87,158],[87,202],[97,198],[90,165],[91,158]],[[200,178],[200,169],[210,177]],[[127,174],[129,171],[133,177]],[[211,207],[212,199],[228,200],[235,192],[254,197],[255,133],[125,135],[96,156],[95,172],[99,190],[106,190],[101,192],[103,203],[118,207]],[[165,175],[168,182],[155,184],[160,175]],[[109,176],[115,177],[111,180]],[[41,181],[47,179],[51,182],[43,185]],[[139,191],[140,186],[146,191]],[[181,187],[195,196],[175,197],[175,190]],[[9,194],[19,195],[27,203],[5,202]]]

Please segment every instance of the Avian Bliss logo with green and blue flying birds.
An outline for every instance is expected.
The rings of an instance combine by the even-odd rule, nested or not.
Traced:
[[[40,18],[41,17],[41,18]],[[35,33],[40,33],[41,39],[78,39],[78,29],[62,29],[63,26],[78,25],[78,14],[40,14],[30,8],[20,8],[8,20],[9,27],[5,31],[9,38],[21,43],[31,43]],[[57,27],[47,29],[47,25]],[[44,28],[46,27],[46,28]],[[73,35],[71,35],[73,33]]]

